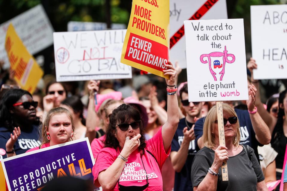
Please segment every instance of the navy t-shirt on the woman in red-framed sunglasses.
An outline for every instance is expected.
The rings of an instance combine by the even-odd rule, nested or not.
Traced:
[[[39,126],[32,125],[29,130],[21,129],[21,135],[18,137],[17,142],[14,144],[14,150],[16,155],[20,155],[25,153],[27,150],[32,149],[34,147],[39,147],[41,145],[41,141],[39,141]],[[9,138],[11,138],[10,134],[12,132],[8,130],[6,127],[0,127],[0,148],[6,151],[6,142]],[[13,134],[13,133],[12,133]],[[5,142],[5,144],[1,144],[1,142]],[[6,158],[6,156],[2,156]]]

